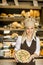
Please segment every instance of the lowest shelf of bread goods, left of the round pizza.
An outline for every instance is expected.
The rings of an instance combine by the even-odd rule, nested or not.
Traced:
[[[6,60],[7,59],[10,59],[10,60],[14,59],[14,61],[15,61],[15,58],[14,58],[14,56],[15,56],[15,50],[14,49],[3,49],[2,53],[3,53],[3,55],[0,56],[1,59],[6,59]]]

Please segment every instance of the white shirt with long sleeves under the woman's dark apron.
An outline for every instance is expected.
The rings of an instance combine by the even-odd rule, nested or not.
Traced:
[[[34,39],[34,38],[33,38]],[[16,45],[15,45],[15,50],[19,50],[20,46],[21,46],[21,40],[22,40],[22,36],[18,36],[18,39],[16,41]],[[35,39],[34,39],[35,40]],[[27,41],[26,40],[26,44],[28,45],[28,47],[31,46],[32,41]],[[40,40],[38,37],[36,37],[36,50],[35,52],[37,55],[39,55],[40,53]]]

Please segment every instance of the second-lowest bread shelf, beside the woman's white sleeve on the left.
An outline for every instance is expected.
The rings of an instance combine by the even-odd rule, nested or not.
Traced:
[[[0,50],[2,49],[10,49],[10,48],[14,48],[16,44],[16,41],[11,39],[11,40],[3,40],[3,42],[0,42]]]

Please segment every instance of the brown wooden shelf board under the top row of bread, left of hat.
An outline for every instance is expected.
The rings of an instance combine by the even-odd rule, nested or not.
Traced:
[[[15,17],[0,17],[0,21],[3,22],[12,22],[12,21],[21,21],[24,20],[23,16],[15,16]]]

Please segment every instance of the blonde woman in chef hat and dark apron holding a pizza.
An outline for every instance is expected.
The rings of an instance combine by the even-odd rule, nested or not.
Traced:
[[[18,36],[15,50],[25,49],[30,52],[31,56],[28,63],[17,63],[17,65],[35,65],[33,58],[39,56],[40,53],[40,41],[35,35],[35,19],[27,18],[24,20],[25,31],[22,36]]]

